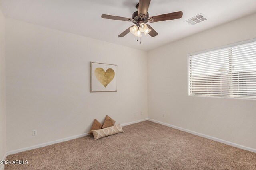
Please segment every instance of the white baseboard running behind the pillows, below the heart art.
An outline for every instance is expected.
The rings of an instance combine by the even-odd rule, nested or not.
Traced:
[[[121,126],[127,126],[127,125],[131,125],[131,124],[134,124],[134,123],[139,123],[139,122],[145,121],[145,120],[148,120],[148,119],[146,118],[146,119],[142,119],[142,120],[138,120],[138,121],[124,123]],[[86,135],[88,135],[88,133],[84,133],[84,134],[80,134],[80,135],[76,135],[76,136],[72,136],[72,137],[66,137],[66,138],[63,138],[63,139],[58,139],[56,141],[46,142],[46,143],[42,143],[42,144],[38,144],[38,145],[33,145],[31,147],[26,147],[26,148],[22,148],[22,149],[12,150],[12,151],[7,152],[7,155],[15,154],[15,153],[19,153],[19,152],[24,152],[26,150],[36,149],[36,148],[40,148],[40,147],[45,147],[45,146],[52,145],[52,144],[55,144],[55,143],[69,141],[69,140],[76,139],[76,138],[79,138],[79,137],[84,137]],[[2,169],[0,169],[0,170],[2,170]]]

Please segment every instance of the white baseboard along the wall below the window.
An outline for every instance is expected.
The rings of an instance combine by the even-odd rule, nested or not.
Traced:
[[[161,124],[161,125],[165,125],[165,126],[168,126],[168,127],[172,127],[174,129],[178,129],[178,130],[181,130],[181,131],[185,131],[185,132],[188,132],[188,133],[192,133],[194,135],[197,135],[197,136],[200,136],[200,137],[204,137],[204,138],[207,138],[207,139],[211,139],[213,141],[217,141],[217,142],[220,142],[220,143],[224,143],[226,145],[231,145],[233,147],[237,147],[237,148],[240,148],[240,149],[244,149],[244,150],[248,150],[250,152],[254,152],[256,153],[256,149],[253,149],[253,148],[250,148],[250,147],[246,147],[246,146],[243,146],[243,145],[239,145],[237,143],[233,143],[233,142],[229,142],[229,141],[225,141],[225,140],[222,140],[222,139],[218,139],[216,137],[211,137],[211,136],[208,136],[208,135],[204,135],[202,133],[198,133],[198,132],[195,132],[195,131],[190,131],[188,129],[184,129],[182,127],[178,127],[178,126],[174,126],[174,125],[170,125],[170,124],[167,124],[167,123],[163,123],[161,121],[156,121],[154,119],[148,119],[149,121],[152,121],[152,122],[155,122],[155,123],[158,123],[158,124]]]

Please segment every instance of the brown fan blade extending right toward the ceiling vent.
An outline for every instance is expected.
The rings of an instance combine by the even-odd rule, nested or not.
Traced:
[[[179,19],[182,18],[183,12],[178,11],[178,12],[172,12],[168,14],[162,14],[158,16],[152,16],[148,18],[149,22],[159,22],[159,21],[167,21],[167,20],[174,20],[174,19]]]

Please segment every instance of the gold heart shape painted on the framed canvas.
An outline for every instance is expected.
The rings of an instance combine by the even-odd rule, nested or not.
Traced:
[[[106,71],[104,71],[103,68],[96,68],[94,70],[94,75],[99,80],[99,82],[104,86],[108,86],[108,84],[114,79],[115,72],[113,69],[108,68]]]

